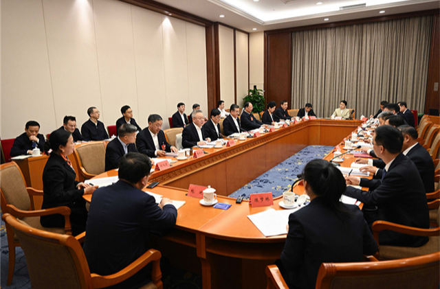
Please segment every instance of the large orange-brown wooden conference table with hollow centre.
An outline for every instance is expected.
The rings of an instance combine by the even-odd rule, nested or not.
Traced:
[[[265,266],[274,264],[281,256],[286,235],[265,237],[248,215],[282,209],[278,205],[281,196],[274,198],[274,205],[252,207],[248,200],[236,204],[236,199],[227,195],[305,146],[340,144],[360,124],[360,121],[329,119],[300,122],[261,137],[238,141],[231,147],[203,149],[208,154],[177,161],[173,167],[154,172],[150,181],[161,184],[146,189],[148,192],[186,203],[178,210],[175,229],[164,236],[153,236],[151,247],[161,251],[173,266],[201,274],[203,289],[265,288]],[[332,153],[325,159],[331,157]],[[342,165],[349,166],[352,161],[353,156],[346,155]],[[117,174],[112,170],[96,178]],[[217,189],[219,202],[231,207],[222,210],[200,205],[199,198],[187,196],[189,184],[211,185]],[[295,192],[303,194],[303,189],[298,186]],[[84,198],[91,201],[91,195]]]

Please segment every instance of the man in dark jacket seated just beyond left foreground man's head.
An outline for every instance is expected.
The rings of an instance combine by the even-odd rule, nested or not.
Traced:
[[[133,124],[122,124],[119,127],[118,137],[107,144],[105,149],[105,171],[118,168],[119,160],[124,154],[137,152],[136,141],[137,128]]]

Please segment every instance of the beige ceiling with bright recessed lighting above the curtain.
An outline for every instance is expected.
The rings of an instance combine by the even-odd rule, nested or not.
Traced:
[[[439,9],[438,0],[155,0],[247,32]],[[321,5],[316,3],[322,2]],[[389,3],[388,3],[389,2]],[[339,10],[366,3],[366,7]],[[379,12],[384,10],[383,14]],[[220,18],[219,15],[225,15]],[[328,18],[329,21],[324,21]],[[256,28],[256,31],[252,30]]]

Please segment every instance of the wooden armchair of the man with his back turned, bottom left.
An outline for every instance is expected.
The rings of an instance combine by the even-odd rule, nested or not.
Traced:
[[[14,229],[21,242],[32,288],[104,288],[119,284],[151,262],[153,262],[151,274],[153,281],[142,288],[162,289],[163,287],[159,251],[148,250],[118,273],[107,276],[91,274],[80,245],[80,241],[85,239],[84,233],[75,238],[72,235],[32,229],[8,213],[3,215],[2,219],[8,227]]]

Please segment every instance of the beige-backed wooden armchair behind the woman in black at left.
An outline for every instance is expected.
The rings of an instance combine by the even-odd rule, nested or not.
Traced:
[[[21,222],[29,224],[30,227],[51,231],[54,233],[67,233],[72,235],[72,227],[70,226],[70,209],[68,207],[56,207],[52,209],[34,209],[33,196],[43,196],[42,191],[26,187],[25,178],[21,173],[17,163],[4,163],[0,165],[0,194],[1,194],[1,211],[10,213],[21,219]],[[60,213],[65,218],[64,228],[46,228],[41,226],[40,217]],[[6,234],[8,236],[9,249],[9,267],[8,267],[8,286],[12,283],[15,267],[15,247],[21,246],[17,235],[8,225],[6,225]]]

